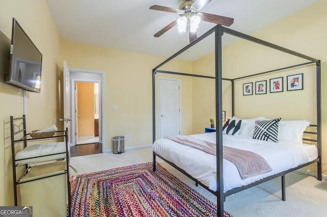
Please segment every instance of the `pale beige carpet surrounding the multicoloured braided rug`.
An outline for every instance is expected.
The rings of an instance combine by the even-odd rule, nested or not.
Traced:
[[[152,161],[152,149],[134,149],[122,154],[94,154],[71,158],[71,165],[78,174],[111,168],[141,164]],[[157,157],[157,162],[173,175],[196,189],[209,200],[217,203],[216,197],[179,171]],[[281,178],[276,178],[226,198],[224,209],[241,216],[327,216],[327,181],[297,172],[286,175],[286,201],[282,201]]]

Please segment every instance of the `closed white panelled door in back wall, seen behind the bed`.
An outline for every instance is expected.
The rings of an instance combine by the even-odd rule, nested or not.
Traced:
[[[180,81],[159,78],[160,138],[180,134]]]

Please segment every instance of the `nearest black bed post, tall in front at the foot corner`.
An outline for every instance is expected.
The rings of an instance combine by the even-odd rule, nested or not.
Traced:
[[[223,188],[223,138],[222,138],[222,45],[223,29],[216,26],[215,31],[215,62],[216,62],[216,162],[217,162],[217,216],[224,216],[224,188]]]

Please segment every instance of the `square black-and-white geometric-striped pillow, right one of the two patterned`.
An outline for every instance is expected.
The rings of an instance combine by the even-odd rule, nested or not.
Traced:
[[[255,121],[253,139],[278,143],[278,124],[281,118]]]

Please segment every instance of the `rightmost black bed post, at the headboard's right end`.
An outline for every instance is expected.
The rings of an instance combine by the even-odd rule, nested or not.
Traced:
[[[322,180],[322,159],[321,159],[321,60],[316,63],[317,82],[317,149],[319,161],[317,162],[317,178]]]

